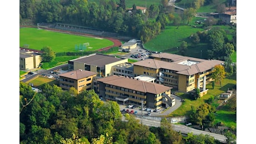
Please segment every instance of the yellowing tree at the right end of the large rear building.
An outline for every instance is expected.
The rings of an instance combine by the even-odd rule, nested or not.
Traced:
[[[220,83],[221,86],[221,81],[225,78],[225,69],[223,65],[216,65],[214,66],[213,73],[211,75],[211,78],[214,79],[217,83]]]

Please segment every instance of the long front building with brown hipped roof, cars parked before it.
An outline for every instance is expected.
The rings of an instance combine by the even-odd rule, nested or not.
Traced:
[[[168,107],[175,102],[171,96],[171,87],[147,81],[126,78],[124,76],[107,76],[97,79],[97,92],[106,99],[128,102],[146,107]]]

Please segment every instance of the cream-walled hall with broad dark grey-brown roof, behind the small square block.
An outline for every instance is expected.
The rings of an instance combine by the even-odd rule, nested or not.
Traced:
[[[69,60],[68,71],[82,69],[95,72],[97,76],[105,77],[112,75],[112,66],[127,62],[128,59],[95,53],[82,58]]]

